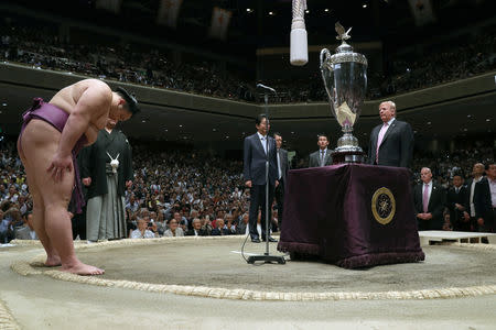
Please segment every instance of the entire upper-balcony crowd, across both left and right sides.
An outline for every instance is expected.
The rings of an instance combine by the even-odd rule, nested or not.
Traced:
[[[171,61],[170,51],[129,43],[69,43],[55,30],[2,26],[0,61],[242,101],[257,99],[254,85],[216,64]],[[367,97],[381,98],[468,78],[496,68],[496,34],[461,44],[438,45],[413,58],[389,54],[388,75],[369,73]],[[320,73],[308,78],[266,81],[279,91],[274,102],[326,101]]]

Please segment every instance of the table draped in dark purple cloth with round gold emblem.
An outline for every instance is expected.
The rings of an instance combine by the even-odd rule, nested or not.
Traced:
[[[406,168],[341,164],[289,172],[278,250],[341,267],[409,263],[420,248]]]

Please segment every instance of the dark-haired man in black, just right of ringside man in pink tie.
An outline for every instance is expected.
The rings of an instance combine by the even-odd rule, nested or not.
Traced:
[[[457,231],[471,231],[471,219],[466,212],[468,200],[466,186],[461,174],[453,175],[453,187],[448,190],[446,206],[450,209],[450,221]]]

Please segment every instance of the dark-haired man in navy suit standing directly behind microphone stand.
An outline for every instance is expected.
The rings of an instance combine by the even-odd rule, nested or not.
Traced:
[[[268,239],[270,242],[277,242],[270,237],[270,232],[266,233],[266,161],[269,162],[269,204],[272,202],[274,188],[279,184],[277,180],[278,158],[276,141],[268,135],[270,124],[265,114],[257,117],[255,127],[257,128],[257,133],[245,138],[242,169],[245,185],[250,188],[250,237],[251,242],[260,243],[257,232],[257,217],[258,210],[261,208],[262,240]],[[269,217],[271,216],[272,208],[269,206]]]

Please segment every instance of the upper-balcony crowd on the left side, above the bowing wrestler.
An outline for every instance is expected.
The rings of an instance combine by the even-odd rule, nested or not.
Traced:
[[[247,81],[215,63],[174,64],[170,52],[129,43],[68,43],[48,28],[19,25],[3,30],[0,61],[188,94],[255,100]]]

